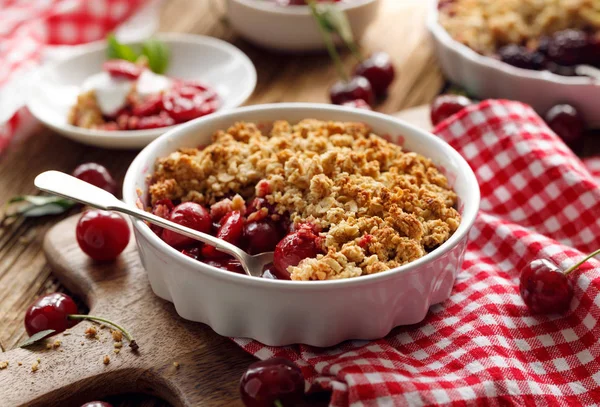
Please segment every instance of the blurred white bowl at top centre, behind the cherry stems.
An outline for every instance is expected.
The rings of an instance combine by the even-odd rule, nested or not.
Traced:
[[[356,39],[375,19],[379,0],[349,0],[341,7]],[[280,51],[325,49],[308,6],[279,6],[265,0],[227,0],[227,16],[236,32],[250,42]]]

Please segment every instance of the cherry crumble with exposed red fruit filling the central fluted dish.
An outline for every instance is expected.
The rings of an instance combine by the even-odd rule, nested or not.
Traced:
[[[275,251],[263,277],[332,280],[384,272],[456,231],[457,196],[426,157],[362,123],[239,122],[212,143],[162,157],[149,208],[251,254]],[[237,260],[168,230],[184,254],[242,272]]]

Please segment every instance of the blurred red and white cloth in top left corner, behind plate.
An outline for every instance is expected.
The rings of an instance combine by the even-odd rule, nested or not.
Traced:
[[[103,39],[122,23],[147,35],[156,0],[0,0],[0,153],[35,120],[25,104],[31,72],[62,45]],[[142,15],[143,14],[143,15]],[[64,49],[62,50],[65,51]],[[56,56],[54,56],[56,57]]]

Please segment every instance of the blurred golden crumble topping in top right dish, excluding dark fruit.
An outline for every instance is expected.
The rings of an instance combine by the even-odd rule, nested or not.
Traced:
[[[537,41],[568,28],[600,29],[598,0],[453,0],[440,9],[440,24],[457,41],[493,55],[507,44]]]

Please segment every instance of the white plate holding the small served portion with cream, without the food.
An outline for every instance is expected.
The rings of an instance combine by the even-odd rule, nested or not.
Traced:
[[[201,80],[217,91],[220,109],[244,103],[256,86],[252,61],[233,45],[216,38],[185,34],[160,34],[171,52],[168,76]],[[100,72],[106,60],[105,41],[89,44],[80,52],[43,67],[29,90],[27,106],[31,113],[58,133],[98,147],[142,148],[171,127],[149,130],[106,131],[77,127],[67,122],[80,86]]]

